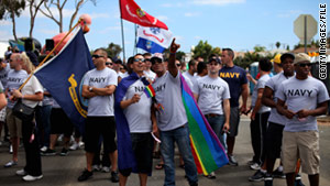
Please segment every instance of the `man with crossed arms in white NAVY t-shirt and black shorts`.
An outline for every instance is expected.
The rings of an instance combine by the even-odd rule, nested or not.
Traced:
[[[117,87],[118,76],[113,69],[106,66],[107,52],[98,48],[92,54],[92,63],[96,66],[85,74],[82,83],[82,97],[89,99],[88,113],[85,124],[85,151],[87,167],[78,177],[79,182],[92,176],[92,157],[97,152],[100,135],[103,136],[103,145],[109,147],[111,160],[111,182],[119,182],[117,173],[117,144],[116,122],[113,112],[113,92]]]

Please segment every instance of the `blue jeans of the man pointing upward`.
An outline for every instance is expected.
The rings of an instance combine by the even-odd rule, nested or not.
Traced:
[[[164,169],[165,169],[164,186],[175,186],[175,165],[174,165],[175,142],[177,143],[179,152],[184,158],[185,172],[189,185],[196,184],[198,182],[197,168],[190,149],[188,124],[185,124],[184,127],[170,131],[161,131],[161,139],[162,139],[161,151],[164,158]]]

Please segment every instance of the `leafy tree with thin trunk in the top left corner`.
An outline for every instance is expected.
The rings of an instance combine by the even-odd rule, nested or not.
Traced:
[[[11,19],[12,34],[15,41],[18,41],[15,17],[20,17],[24,9],[24,0],[1,0],[0,2],[0,20]]]

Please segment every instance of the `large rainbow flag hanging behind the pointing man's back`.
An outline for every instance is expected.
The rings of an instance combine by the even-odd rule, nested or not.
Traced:
[[[228,164],[227,153],[212,128],[199,110],[194,95],[183,75],[183,102],[188,118],[190,144],[195,164],[199,174],[209,175],[211,172]]]

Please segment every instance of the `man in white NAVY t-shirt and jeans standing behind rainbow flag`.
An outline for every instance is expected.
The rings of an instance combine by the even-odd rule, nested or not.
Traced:
[[[198,102],[199,109],[205,114],[222,146],[226,149],[223,133],[229,130],[229,86],[218,76],[220,61],[210,58],[207,66],[208,75],[197,79],[194,85],[194,97]],[[211,173],[208,177],[216,178],[216,175],[215,173]]]

